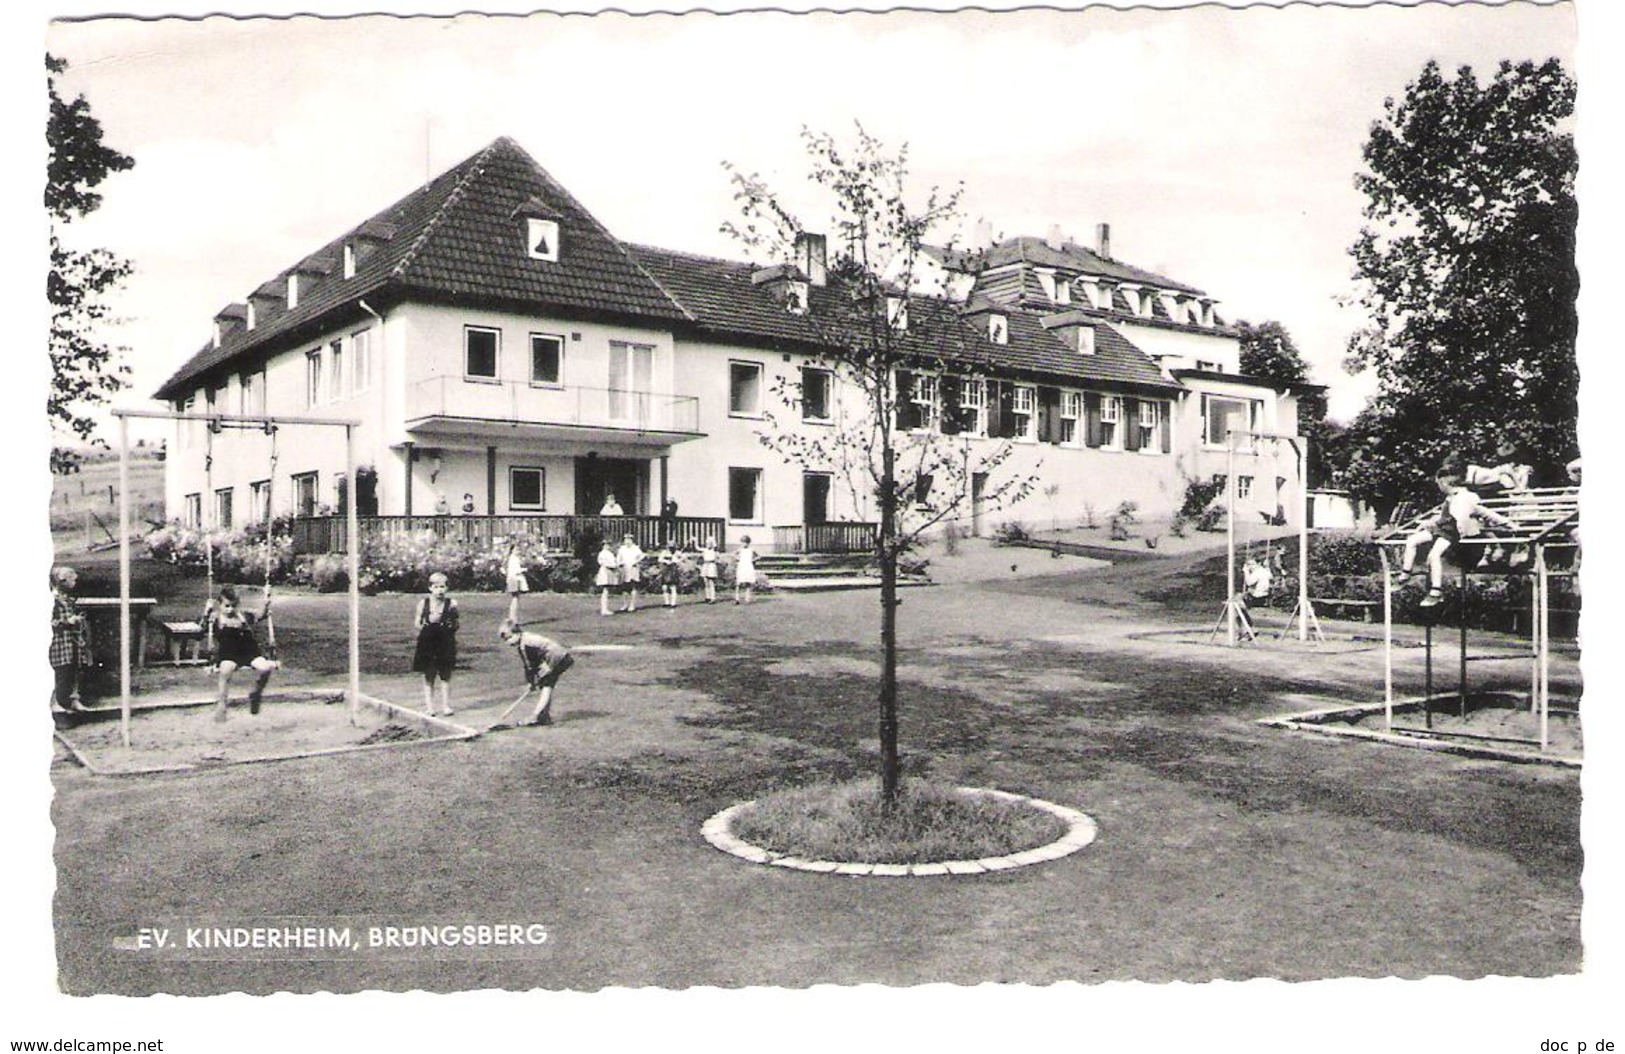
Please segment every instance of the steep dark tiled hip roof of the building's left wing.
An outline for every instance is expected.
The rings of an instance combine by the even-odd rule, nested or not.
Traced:
[[[515,216],[531,200],[549,205],[559,218],[562,253],[556,263],[525,252]],[[353,310],[358,299],[382,289],[522,300],[666,323],[684,318],[603,224],[509,138],[496,140],[304,261],[338,260],[344,244],[356,239],[370,239],[377,247],[361,247],[354,278],[335,268],[301,289],[296,309],[271,302],[257,310],[254,330],[229,335],[219,348],[205,346],[159,387],[156,398],[182,395],[202,374],[231,369],[236,359],[333,312]],[[284,289],[284,281],[273,278],[255,294],[281,300]]]

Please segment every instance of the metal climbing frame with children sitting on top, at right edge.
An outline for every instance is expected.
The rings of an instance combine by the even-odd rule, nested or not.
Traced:
[[[1450,736],[1458,739],[1497,739],[1502,742],[1526,742],[1539,745],[1544,752],[1550,745],[1550,713],[1552,713],[1552,581],[1573,580],[1580,575],[1580,487],[1536,487],[1529,490],[1510,490],[1498,497],[1484,499],[1482,505],[1505,516],[1511,526],[1495,526],[1482,534],[1464,536],[1451,544],[1453,554],[1461,565],[1461,604],[1458,604],[1459,653],[1456,703],[1458,716],[1467,716],[1467,664],[1469,663],[1505,663],[1529,661],[1529,711],[1539,721],[1539,737],[1518,739],[1508,736],[1479,736],[1472,732],[1448,732],[1433,728],[1433,715],[1438,711],[1436,700],[1450,692],[1436,693],[1433,685],[1433,620],[1424,622],[1422,646],[1424,658],[1424,695],[1422,713],[1424,728],[1406,728],[1394,723],[1394,547],[1404,547],[1406,538],[1415,533],[1425,521],[1440,515],[1441,507],[1412,516],[1404,523],[1384,528],[1372,541],[1376,542],[1383,559],[1383,718],[1388,731],[1420,732],[1427,736]],[[1529,557],[1519,568],[1480,567],[1485,552],[1495,549],[1523,552]],[[1566,567],[1554,567],[1552,557]],[[1529,651],[1519,653],[1482,653],[1471,654],[1467,646],[1467,586],[1472,577],[1523,578],[1529,585]],[[1436,609],[1435,609],[1436,611]]]

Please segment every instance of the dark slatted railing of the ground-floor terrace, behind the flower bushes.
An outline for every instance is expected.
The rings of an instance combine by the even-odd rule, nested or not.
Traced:
[[[726,544],[726,521],[712,516],[361,516],[364,544],[377,538],[431,534],[439,541],[458,541],[489,547],[497,538],[540,541],[554,552],[575,552],[583,539],[619,541],[630,534],[644,549],[656,549],[666,539],[673,547],[699,547],[707,538]],[[306,516],[292,521],[294,552],[346,552],[344,516]]]

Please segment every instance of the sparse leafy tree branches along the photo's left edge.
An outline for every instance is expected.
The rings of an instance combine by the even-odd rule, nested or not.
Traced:
[[[96,421],[89,409],[125,385],[128,367],[122,348],[109,344],[101,328],[110,322],[107,294],[130,274],[130,263],[106,248],[70,248],[60,227],[101,206],[96,188],[114,172],[135,161],[102,143],[101,122],[84,96],[65,101],[57,93],[57,75],[67,63],[46,55],[50,117],[46,141],[50,161],[46,179],[46,208],[50,211],[50,271],[46,294],[50,299],[50,395],[47,411],[58,434],[89,438]],[[72,471],[78,460],[63,448],[50,451],[54,471]]]

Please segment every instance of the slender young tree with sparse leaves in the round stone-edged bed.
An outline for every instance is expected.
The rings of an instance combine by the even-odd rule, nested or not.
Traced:
[[[850,145],[806,128],[801,140],[809,184],[829,198],[826,229],[834,235],[826,281],[811,286],[804,317],[816,359],[843,398],[834,429],[812,434],[774,421],[759,437],[803,468],[850,469],[861,481],[860,505],[873,497],[879,513],[881,793],[892,804],[902,784],[899,557],[921,533],[965,510],[978,474],[986,474],[986,486],[975,500],[985,508],[1019,502],[1034,479],[999,473],[1012,450],[1008,440],[970,435],[978,395],[986,391],[985,348],[960,304],[942,291],[921,291],[926,248],[957,224],[960,190],[933,187],[916,198],[907,146],[890,153],[861,127]],[[726,167],[741,219],[723,231],[752,255],[791,260],[809,229],[759,175]],[[951,237],[942,242],[952,252]],[[806,395],[796,380],[780,385],[788,404],[800,406]]]

